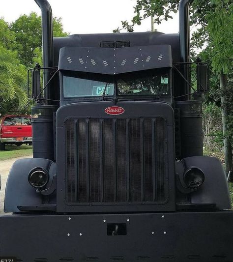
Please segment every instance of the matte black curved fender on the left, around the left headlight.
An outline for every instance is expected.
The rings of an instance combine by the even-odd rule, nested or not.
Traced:
[[[25,158],[17,160],[10,169],[6,189],[4,212],[20,212],[17,205],[43,204],[43,196],[36,193],[36,189],[30,186],[28,181],[29,171],[35,167],[43,167],[48,170],[50,181],[56,174],[56,163],[44,158]]]

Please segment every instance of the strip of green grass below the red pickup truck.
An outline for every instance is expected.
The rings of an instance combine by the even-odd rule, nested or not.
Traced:
[[[4,151],[0,151],[0,160],[32,155],[32,146],[7,145]]]

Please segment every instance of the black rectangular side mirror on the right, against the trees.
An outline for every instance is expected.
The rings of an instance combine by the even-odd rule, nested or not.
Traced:
[[[209,89],[209,66],[207,63],[197,64],[197,91],[206,93]]]

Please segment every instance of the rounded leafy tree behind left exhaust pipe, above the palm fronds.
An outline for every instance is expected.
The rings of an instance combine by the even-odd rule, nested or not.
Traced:
[[[68,33],[63,32],[61,19],[53,19],[54,36],[67,36]],[[21,15],[15,22],[10,25],[10,29],[15,33],[15,40],[20,62],[27,67],[33,67],[35,61],[39,61],[42,57],[41,42],[41,16],[35,12],[28,15]]]

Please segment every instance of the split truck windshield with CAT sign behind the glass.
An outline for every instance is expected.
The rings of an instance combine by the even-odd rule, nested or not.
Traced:
[[[118,95],[168,95],[169,70],[154,69],[116,76],[63,73],[63,95],[69,97],[98,97]]]

